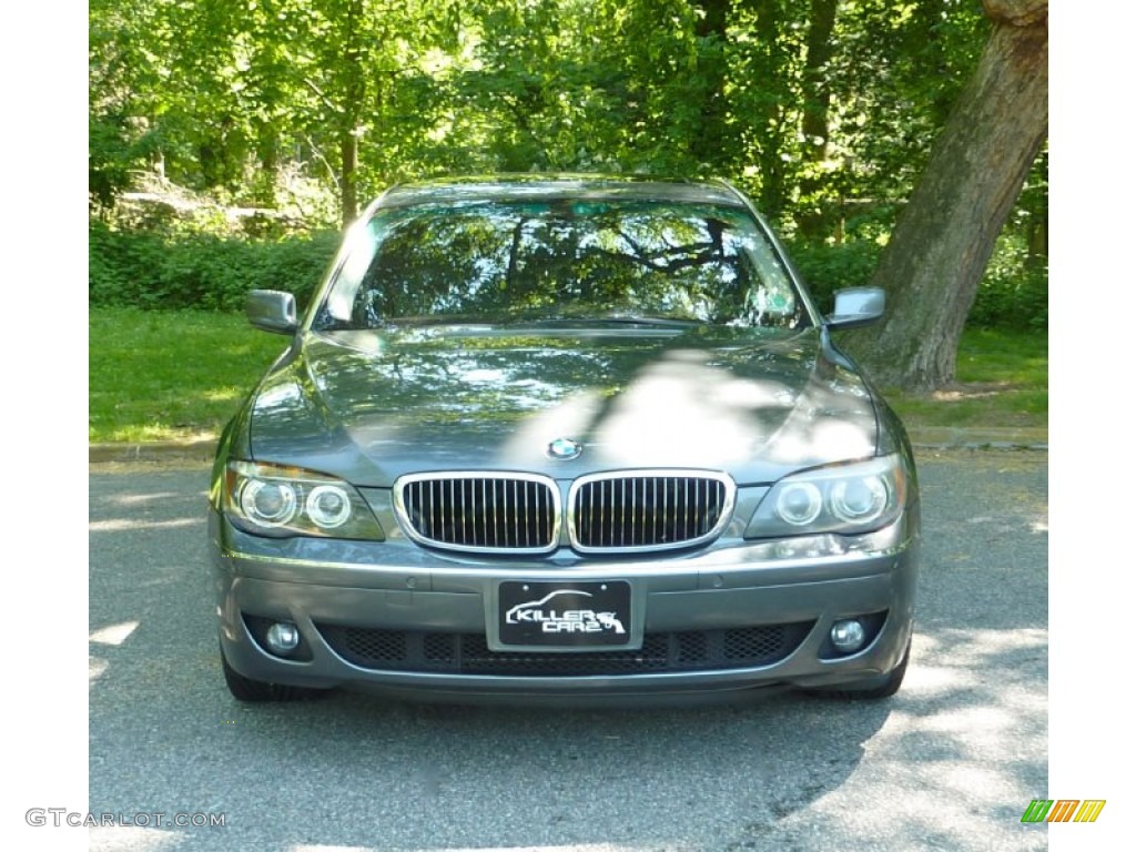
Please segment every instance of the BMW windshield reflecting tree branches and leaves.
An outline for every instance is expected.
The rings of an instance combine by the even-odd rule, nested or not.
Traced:
[[[378,210],[312,327],[636,318],[809,324],[745,209],[526,199]]]

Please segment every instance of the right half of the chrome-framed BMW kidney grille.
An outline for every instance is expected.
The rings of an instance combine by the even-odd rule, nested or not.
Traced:
[[[573,483],[568,534],[576,550],[643,552],[686,548],[721,533],[734,482],[705,470],[593,474]]]

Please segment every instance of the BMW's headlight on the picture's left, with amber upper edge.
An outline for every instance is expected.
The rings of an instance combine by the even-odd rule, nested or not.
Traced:
[[[351,485],[281,465],[229,461],[225,515],[258,535],[383,538],[370,507]]]

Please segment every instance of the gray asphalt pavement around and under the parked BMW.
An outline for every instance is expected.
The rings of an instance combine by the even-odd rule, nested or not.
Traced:
[[[74,809],[114,819],[75,830],[147,851],[1045,849],[1020,818],[1047,784],[1046,466],[920,451],[918,634],[894,699],[584,711],[234,701],[207,466],[93,465],[90,801]]]

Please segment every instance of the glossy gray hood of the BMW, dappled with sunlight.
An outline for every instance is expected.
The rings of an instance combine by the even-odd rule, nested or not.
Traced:
[[[309,334],[249,406],[252,458],[374,487],[429,470],[679,467],[746,485],[877,445],[871,392],[817,329]],[[562,437],[578,458],[550,457]]]

